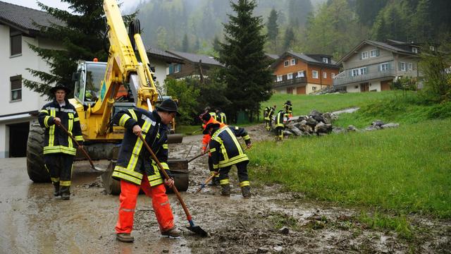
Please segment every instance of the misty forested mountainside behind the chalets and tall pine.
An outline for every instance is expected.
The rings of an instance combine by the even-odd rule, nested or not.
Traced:
[[[339,59],[360,41],[438,44],[450,38],[447,0],[257,0],[265,52],[330,54]],[[216,55],[231,14],[224,0],[147,0],[137,6],[146,44]],[[132,12],[133,10],[128,10]]]

